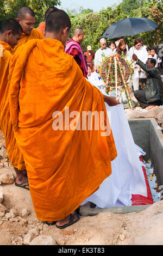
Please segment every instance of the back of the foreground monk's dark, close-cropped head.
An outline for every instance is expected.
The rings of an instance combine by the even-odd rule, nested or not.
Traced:
[[[49,13],[46,19],[46,32],[52,32],[58,34],[61,29],[68,27],[68,31],[71,29],[71,21],[68,14],[63,10],[54,10]]]

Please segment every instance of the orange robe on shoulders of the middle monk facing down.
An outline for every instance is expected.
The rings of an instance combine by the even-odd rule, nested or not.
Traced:
[[[18,40],[18,44],[14,47],[14,51],[16,51],[19,46],[26,44],[26,42],[32,39],[44,39],[44,35],[42,35],[36,28],[33,28],[29,35],[22,33],[21,39]]]

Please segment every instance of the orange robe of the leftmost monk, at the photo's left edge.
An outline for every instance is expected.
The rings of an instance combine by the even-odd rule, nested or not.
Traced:
[[[26,166],[23,155],[17,147],[10,118],[8,74],[11,53],[11,46],[7,42],[0,41],[0,129],[5,137],[5,146],[12,166],[24,170]]]

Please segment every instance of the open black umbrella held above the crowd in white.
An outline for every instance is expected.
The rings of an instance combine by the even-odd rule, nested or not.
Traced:
[[[137,35],[142,32],[153,31],[158,27],[155,22],[147,18],[127,18],[112,24],[106,29],[103,38],[119,38],[120,36]]]

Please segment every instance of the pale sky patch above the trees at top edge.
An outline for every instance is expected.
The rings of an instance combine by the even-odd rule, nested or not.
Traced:
[[[60,8],[64,10],[78,9],[80,6],[83,5],[84,9],[90,8],[93,9],[93,11],[100,11],[103,8],[106,9],[112,4],[119,4],[121,0],[102,0],[102,2],[100,0],[60,0],[60,2]]]

